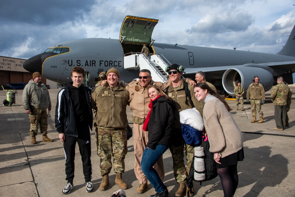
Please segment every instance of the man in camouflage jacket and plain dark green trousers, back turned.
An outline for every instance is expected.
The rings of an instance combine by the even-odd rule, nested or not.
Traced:
[[[275,130],[283,131],[286,127],[287,100],[291,98],[292,94],[290,88],[284,84],[282,76],[278,77],[277,83],[278,84],[273,87],[273,90],[270,92],[270,97],[275,105]]]

